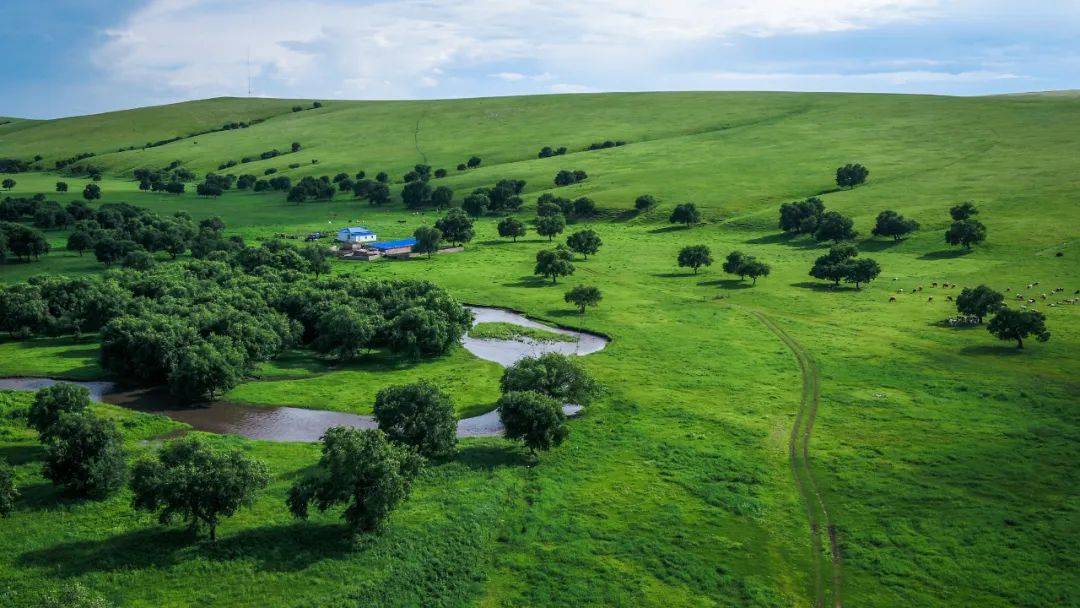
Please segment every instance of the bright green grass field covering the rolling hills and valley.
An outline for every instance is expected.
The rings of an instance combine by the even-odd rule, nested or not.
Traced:
[[[13,122],[0,126],[0,158],[40,153],[51,165],[95,151],[105,201],[220,215],[248,240],[361,222],[382,238],[404,237],[436,215],[345,198],[295,205],[280,193],[151,194],[130,171],[180,160],[202,174],[296,140],[303,150],[295,156],[231,171],[284,170],[296,158],[307,164],[286,175],[364,168],[396,177],[427,161],[450,170],[435,183],[459,201],[499,178],[525,179],[526,219],[556,171],[584,170],[589,179],[557,193],[597,202],[600,216],[578,226],[596,230],[604,246],[558,285],[531,275],[548,241],[531,231],[502,241],[494,218],[477,221],[461,254],[338,262],[334,272],[430,279],[462,301],[610,336],[582,360],[603,398],[536,467],[501,440],[462,442],[459,458],[424,473],[384,533],[355,543],[341,540],[332,514],[296,523],[283,508],[316,446],[215,438],[268,460],[274,483],[253,510],[222,524],[212,546],[134,513],[130,495],[59,500],[40,475],[32,432],[0,416],[0,456],[29,488],[0,523],[0,605],[32,605],[79,581],[121,606],[809,606],[819,570],[829,605],[837,595],[878,607],[1080,603],[1080,308],[1040,303],[1052,339],[1017,351],[985,328],[939,325],[954,311],[945,297],[959,289],[930,286],[986,283],[1036,298],[1080,288],[1080,98],[665,93],[329,100],[291,112],[295,104],[214,99]],[[114,152],[264,117],[272,118]],[[579,151],[605,139],[627,145]],[[570,153],[537,159],[542,146]],[[454,171],[474,153],[480,168]],[[835,191],[835,167],[852,161],[870,168],[868,183]],[[69,181],[70,193],[51,195],[59,201],[78,198],[83,183],[13,177],[13,194]],[[630,213],[643,193],[659,205]],[[862,255],[883,268],[878,281],[834,291],[807,275],[825,246],[779,234],[775,220],[780,203],[811,194],[854,218]],[[989,231],[970,253],[942,237],[948,207],[964,200]],[[685,201],[705,224],[669,226]],[[887,208],[921,230],[899,243],[869,239]],[[50,237],[59,251],[0,266],[0,281],[102,271],[93,256],[63,251],[65,233]],[[751,287],[719,264],[697,275],[676,268],[678,249],[699,243],[715,258],[753,254],[772,274]],[[1039,288],[1025,288],[1035,281]],[[604,293],[583,317],[563,301],[578,284]],[[923,292],[907,293],[919,285]],[[897,288],[905,294],[890,302]],[[95,377],[93,344],[3,340],[0,373]],[[839,556],[827,539],[812,550],[796,485],[802,473],[793,476],[800,365],[815,370],[808,377],[820,390],[806,465]],[[226,398],[368,411],[378,388],[426,377],[446,386],[460,411],[475,413],[497,396],[498,374],[460,350],[415,366],[372,359],[340,368],[288,353]],[[26,401],[0,398],[5,410]],[[136,452],[171,428],[102,407],[130,421],[123,428]]]

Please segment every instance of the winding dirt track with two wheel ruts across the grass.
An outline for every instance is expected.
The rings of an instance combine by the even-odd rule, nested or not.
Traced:
[[[792,475],[795,477],[795,485],[807,510],[807,519],[810,523],[810,548],[813,563],[813,589],[814,606],[823,608],[826,595],[832,594],[833,606],[841,608],[841,566],[840,548],[837,539],[836,526],[829,518],[828,510],[821,498],[818,489],[818,482],[813,476],[813,468],[810,464],[810,434],[813,432],[814,418],[818,416],[818,404],[821,401],[821,383],[818,375],[818,365],[813,357],[807,352],[802,344],[795,338],[787,335],[771,319],[758,311],[750,311],[766,327],[769,328],[795,355],[799,369],[802,373],[802,397],[799,401],[799,408],[795,413],[795,423],[792,424],[792,433],[787,441],[787,455],[792,464]],[[828,537],[828,552],[826,554],[822,540],[822,527]],[[826,590],[826,585],[829,590]]]

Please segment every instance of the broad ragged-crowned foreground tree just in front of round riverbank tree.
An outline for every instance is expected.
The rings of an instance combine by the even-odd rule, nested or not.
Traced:
[[[288,491],[296,517],[345,504],[342,517],[353,532],[378,529],[411,489],[423,459],[410,446],[391,443],[382,431],[333,427],[323,435],[315,471]]]

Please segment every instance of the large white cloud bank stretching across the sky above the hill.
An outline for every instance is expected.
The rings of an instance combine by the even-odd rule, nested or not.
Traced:
[[[108,29],[94,60],[124,83],[195,97],[259,93],[409,97],[485,65],[510,83],[660,66],[727,37],[927,18],[937,0],[154,0]],[[487,70],[474,77],[483,77]],[[578,77],[580,79],[581,77]],[[460,82],[459,78],[457,82]],[[551,90],[580,85],[553,84]]]

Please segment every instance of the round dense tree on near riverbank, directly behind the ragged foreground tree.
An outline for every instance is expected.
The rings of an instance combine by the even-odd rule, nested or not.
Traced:
[[[449,457],[458,443],[454,401],[428,380],[379,391],[375,420],[390,441],[413,446],[427,458]]]

